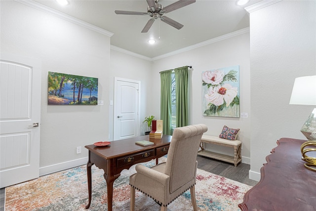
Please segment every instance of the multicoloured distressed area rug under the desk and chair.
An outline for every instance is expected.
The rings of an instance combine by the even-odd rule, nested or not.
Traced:
[[[159,159],[165,162],[166,158]],[[142,163],[147,167],[155,161]],[[135,165],[123,170],[114,182],[113,210],[129,211],[128,179]],[[107,211],[107,188],[103,170],[92,167],[92,201],[88,210],[86,166],[41,176],[38,179],[5,188],[5,211]],[[196,199],[199,211],[239,211],[244,194],[251,186],[197,169]],[[136,211],[159,211],[151,198],[136,191]],[[168,211],[192,211],[190,190],[168,206]]]

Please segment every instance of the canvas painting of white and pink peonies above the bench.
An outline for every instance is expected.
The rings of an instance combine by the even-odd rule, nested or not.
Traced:
[[[202,112],[207,117],[240,117],[239,65],[202,72]]]

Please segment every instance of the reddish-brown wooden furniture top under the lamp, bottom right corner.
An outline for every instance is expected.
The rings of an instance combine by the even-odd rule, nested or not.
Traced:
[[[316,211],[316,172],[306,169],[301,145],[306,140],[281,138],[261,179],[243,197],[242,211]]]

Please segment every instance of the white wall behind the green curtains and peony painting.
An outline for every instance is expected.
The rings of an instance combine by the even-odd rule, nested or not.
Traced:
[[[159,72],[182,66],[192,66],[190,71],[190,124],[203,123],[208,126],[205,134],[218,136],[224,125],[240,128],[237,138],[242,141],[242,158],[250,162],[250,60],[249,31],[228,39],[210,43],[183,53],[154,61],[152,94],[149,96],[148,110],[160,117],[160,76]],[[216,68],[239,65],[240,112],[248,113],[248,118],[204,117],[202,115],[202,72]],[[159,113],[157,113],[159,112]],[[211,147],[210,145],[208,148]],[[225,149],[221,149],[225,150]],[[230,151],[226,151],[231,153]]]

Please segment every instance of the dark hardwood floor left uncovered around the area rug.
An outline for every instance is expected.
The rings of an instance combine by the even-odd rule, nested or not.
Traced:
[[[197,156],[198,169],[224,176],[226,178],[241,182],[250,186],[256,185],[258,182],[249,179],[250,165],[239,163],[237,167],[234,164],[217,161],[215,159]],[[0,189],[0,211],[4,211],[4,188]]]

